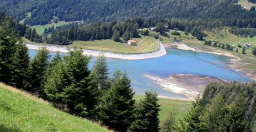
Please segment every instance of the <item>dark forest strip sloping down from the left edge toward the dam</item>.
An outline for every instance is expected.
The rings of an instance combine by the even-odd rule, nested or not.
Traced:
[[[20,24],[18,19],[13,19],[2,11],[0,11],[0,26],[9,32],[17,33],[18,37],[25,37],[32,42],[42,42],[42,37],[37,34],[35,29],[32,30],[26,24]]]

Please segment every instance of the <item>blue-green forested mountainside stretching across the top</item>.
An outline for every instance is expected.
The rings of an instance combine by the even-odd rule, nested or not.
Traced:
[[[110,22],[131,17],[218,19],[225,25],[256,27],[255,8],[243,9],[238,0],[143,0],[143,1],[50,1],[50,0],[11,0],[0,2],[0,9],[14,18],[24,19],[29,26],[56,21]]]

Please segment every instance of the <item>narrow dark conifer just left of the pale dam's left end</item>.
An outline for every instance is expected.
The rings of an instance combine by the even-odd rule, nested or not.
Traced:
[[[25,89],[28,85],[28,67],[29,67],[29,54],[26,44],[22,42],[16,44],[16,53],[14,55],[14,73],[13,73],[13,87]]]

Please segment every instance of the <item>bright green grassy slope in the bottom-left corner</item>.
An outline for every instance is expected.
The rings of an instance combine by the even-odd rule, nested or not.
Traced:
[[[109,131],[0,83],[0,131]]]

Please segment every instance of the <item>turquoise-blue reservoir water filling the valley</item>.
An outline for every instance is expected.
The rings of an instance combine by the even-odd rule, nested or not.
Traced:
[[[126,71],[132,80],[132,88],[136,94],[144,94],[146,90],[155,90],[159,95],[186,98],[184,95],[168,92],[156,84],[153,80],[144,77],[144,74],[153,75],[161,78],[168,78],[173,74],[196,74],[207,75],[230,81],[251,82],[243,73],[227,67],[229,57],[208,53],[197,53],[187,50],[167,48],[168,54],[163,57],[143,59],[143,60],[125,60],[107,58],[110,75],[119,68],[122,72]],[[36,54],[36,50],[29,50],[31,58]],[[51,53],[55,55],[56,53]],[[89,68],[92,67],[96,57],[92,57]]]

